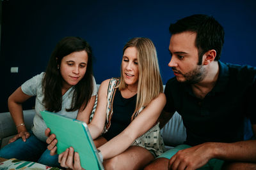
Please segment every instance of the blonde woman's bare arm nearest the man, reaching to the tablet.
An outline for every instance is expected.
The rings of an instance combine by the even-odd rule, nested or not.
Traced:
[[[136,138],[147,132],[156,123],[165,103],[164,94],[159,94],[123,132],[108,141],[108,143],[100,146],[99,150],[104,159],[115,157],[119,153],[124,152]]]

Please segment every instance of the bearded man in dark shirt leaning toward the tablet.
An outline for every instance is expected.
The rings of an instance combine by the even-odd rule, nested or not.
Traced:
[[[223,27],[207,15],[182,18],[169,28],[174,78],[166,83],[162,117],[177,111],[186,145],[146,169],[256,169],[256,140],[244,141],[244,118],[256,134],[256,69],[220,62]],[[170,134],[172,135],[172,134]]]

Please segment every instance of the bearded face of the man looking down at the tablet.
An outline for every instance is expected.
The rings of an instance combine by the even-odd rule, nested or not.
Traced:
[[[195,46],[196,32],[173,34],[169,51],[172,55],[168,66],[172,67],[177,81],[195,84],[205,78],[205,68],[198,65],[198,49]]]

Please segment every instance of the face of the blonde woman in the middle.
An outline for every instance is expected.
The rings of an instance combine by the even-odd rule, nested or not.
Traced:
[[[138,85],[139,68],[137,59],[137,49],[135,47],[126,48],[122,60],[122,74],[125,84]]]

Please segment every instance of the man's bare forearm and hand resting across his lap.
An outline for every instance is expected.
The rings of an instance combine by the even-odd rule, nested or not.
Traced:
[[[256,134],[256,125],[252,125]],[[233,160],[237,162],[256,162],[256,140],[236,143],[203,143],[177,152],[169,162],[172,169],[197,169],[210,159]]]

